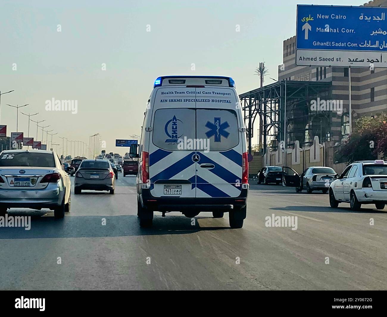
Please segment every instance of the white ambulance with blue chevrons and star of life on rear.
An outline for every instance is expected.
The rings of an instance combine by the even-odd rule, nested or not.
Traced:
[[[246,218],[246,129],[234,80],[222,76],[163,76],[149,97],[139,145],[137,215],[152,225],[154,211],[192,218]]]

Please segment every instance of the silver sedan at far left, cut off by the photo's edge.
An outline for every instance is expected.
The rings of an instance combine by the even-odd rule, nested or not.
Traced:
[[[57,153],[7,150],[0,153],[0,215],[8,208],[49,208],[55,218],[70,211],[71,181]]]

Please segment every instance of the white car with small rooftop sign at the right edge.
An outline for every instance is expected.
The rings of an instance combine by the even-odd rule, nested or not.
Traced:
[[[384,160],[361,161],[350,164],[329,187],[330,207],[350,204],[360,210],[362,204],[375,204],[384,209],[387,203],[387,163]]]

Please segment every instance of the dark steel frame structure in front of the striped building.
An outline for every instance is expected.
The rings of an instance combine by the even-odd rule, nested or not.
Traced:
[[[286,109],[286,147],[293,147],[295,141],[300,146],[313,143],[313,136],[320,140],[329,140],[332,123],[331,111],[313,111],[310,102],[330,100],[331,82],[314,81],[277,81],[239,95],[243,110],[248,138],[248,150],[251,153],[251,139],[254,136],[254,123],[259,115],[264,153],[267,146],[276,150],[284,140],[284,111]],[[286,107],[285,107],[286,103]]]

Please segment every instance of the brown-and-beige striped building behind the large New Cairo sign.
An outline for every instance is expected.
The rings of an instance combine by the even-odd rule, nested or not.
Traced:
[[[387,7],[387,0],[370,1],[364,6]],[[293,36],[284,41],[283,65],[279,65],[278,80],[331,82],[331,98],[342,100],[343,109],[341,114],[332,114],[330,131],[327,133],[331,141],[345,139],[349,134],[348,68],[296,66],[295,59],[296,36]],[[351,90],[352,121],[361,116],[377,116],[387,111],[386,68],[351,67]]]

